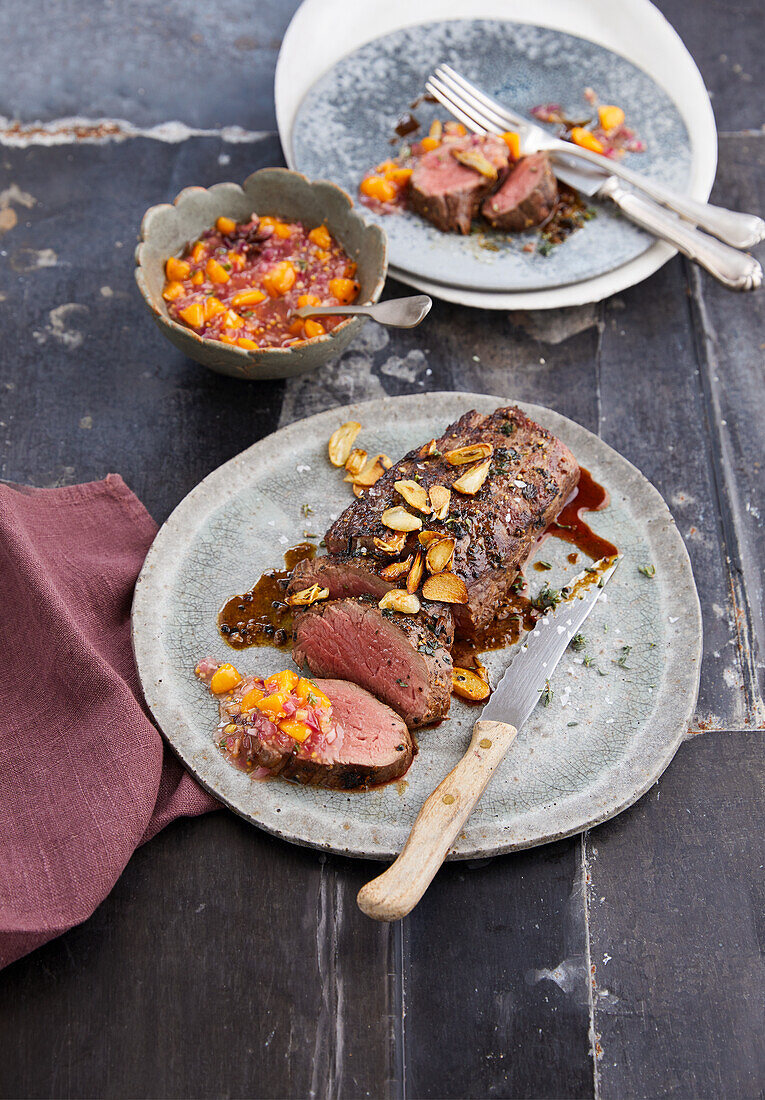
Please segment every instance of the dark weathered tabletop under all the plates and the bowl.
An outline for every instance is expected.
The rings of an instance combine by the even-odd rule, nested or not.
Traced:
[[[714,198],[763,212],[765,8],[659,6],[712,94]],[[759,1096],[765,292],[729,294],[678,257],[598,306],[437,302],[420,330],[370,326],[286,384],[183,359],[139,300],[136,227],[187,184],[283,163],[272,80],[294,7],[0,6],[0,113],[22,124],[0,134],[0,476],[118,471],[162,520],[255,439],[336,404],[453,388],[549,405],[677,519],[704,618],[697,717],[632,810],[451,864],[393,927],[356,908],[371,864],[228,812],[177,822],[89,921],[0,975],[0,1092]],[[96,141],[103,119],[129,124]],[[187,128],[172,141],[153,129],[168,120]]]

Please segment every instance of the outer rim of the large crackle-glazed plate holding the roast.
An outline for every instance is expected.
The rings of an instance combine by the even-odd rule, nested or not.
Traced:
[[[449,400],[453,400],[461,404],[463,406],[463,409],[465,407],[469,407],[471,404],[474,405],[477,400],[479,403],[493,402],[496,403],[499,406],[503,404],[506,405],[509,403],[513,404],[512,402],[510,402],[507,397],[500,397],[495,395],[452,392],[452,391],[436,391],[428,394],[414,394],[414,395],[404,395],[398,397],[374,398],[372,400],[360,402],[349,406],[330,408],[323,413],[314,414],[312,417],[306,417],[303,418],[302,420],[293,421],[293,424],[286,425],[284,426],[284,428],[280,428],[275,432],[271,432],[269,436],[265,436],[263,439],[259,440],[258,442],[249,447],[245,451],[229,459],[227,462],[218,466],[216,470],[212,470],[196,486],[194,486],[194,488],[190,490],[189,493],[186,494],[186,496],[173,509],[171,515],[167,517],[165,522],[161,526],[160,530],[157,531],[156,537],[152,542],[152,546],[150,547],[149,553],[146,554],[146,559],[143,563],[143,566],[135,583],[132,610],[131,610],[131,642],[133,647],[133,654],[135,658],[135,666],[139,674],[139,681],[141,683],[141,689],[143,691],[146,705],[149,706],[152,716],[157,724],[157,727],[162,732],[164,740],[170,745],[174,754],[181,759],[183,766],[195,777],[195,779],[206,790],[208,790],[216,799],[218,799],[218,801],[227,805],[230,810],[233,810],[234,813],[239,814],[239,816],[249,821],[258,828],[262,828],[264,832],[267,832],[274,836],[278,836],[280,838],[288,840],[289,843],[298,844],[303,847],[315,848],[323,851],[331,851],[342,856],[351,856],[351,857],[367,858],[367,859],[391,859],[396,855],[395,851],[390,850],[384,846],[384,844],[382,844],[381,842],[376,842],[374,837],[370,835],[373,832],[373,826],[370,826],[370,832],[368,834],[368,840],[367,840],[368,847],[363,847],[359,844],[354,844],[352,847],[349,847],[348,845],[343,846],[343,845],[338,845],[337,843],[332,843],[331,839],[326,837],[321,839],[316,839],[316,838],[306,839],[306,837],[303,835],[296,835],[294,832],[291,832],[288,827],[286,827],[287,822],[289,821],[288,815],[285,815],[284,824],[282,824],[281,821],[278,822],[263,821],[262,815],[261,818],[259,820],[255,816],[255,814],[253,814],[251,811],[248,812],[244,807],[236,805],[232,802],[231,795],[221,793],[219,790],[216,789],[214,784],[207,782],[205,777],[199,773],[199,770],[195,766],[195,763],[186,758],[179,746],[175,744],[173,737],[171,736],[171,733],[167,729],[165,729],[165,725],[170,726],[172,724],[173,718],[174,721],[181,721],[185,727],[187,727],[188,724],[185,723],[185,721],[178,714],[173,716],[171,714],[165,713],[165,711],[163,710],[162,691],[159,690],[157,688],[157,685],[162,683],[162,676],[160,676],[159,680],[156,679],[156,676],[160,672],[163,672],[163,668],[160,664],[157,664],[155,644],[152,645],[152,638],[156,636],[156,629],[154,630],[150,629],[152,623],[151,609],[160,606],[159,601],[153,595],[154,585],[156,583],[154,578],[155,561],[157,559],[161,560],[160,556],[163,552],[164,543],[168,538],[173,537],[174,527],[183,522],[186,513],[188,513],[188,510],[194,507],[193,498],[196,496],[203,496],[203,497],[206,496],[211,485],[217,481],[221,481],[225,486],[226,484],[225,472],[228,469],[230,469],[233,464],[241,464],[242,461],[249,462],[251,461],[252,458],[261,455],[266,457],[267,461],[267,450],[269,447],[272,446],[274,436],[282,432],[288,432],[291,429],[299,430],[299,426],[305,425],[307,421],[312,421],[314,424],[317,424],[317,426],[324,427],[320,425],[320,421],[326,420],[327,427],[329,427],[330,425],[336,426],[338,417],[343,417],[346,419],[358,418],[359,416],[363,415],[364,410],[376,411],[381,407],[390,408],[392,404],[395,404],[398,407],[404,406],[404,408],[407,405],[418,408],[422,405],[423,400],[433,400],[434,398],[448,398]],[[561,823],[562,827],[548,831],[547,833],[544,833],[544,835],[537,833],[536,835],[527,835],[521,838],[507,839],[505,843],[495,842],[495,843],[490,843],[488,845],[481,845],[476,843],[471,847],[462,846],[458,850],[451,850],[447,856],[448,859],[474,859],[474,858],[493,857],[496,855],[502,855],[507,851],[516,851],[524,848],[536,847],[542,844],[549,844],[555,840],[562,839],[564,837],[567,836],[577,835],[581,832],[584,832],[586,829],[593,827],[594,825],[601,824],[602,822],[608,821],[611,817],[614,817],[618,814],[622,813],[629,806],[637,802],[643,796],[643,794],[645,794],[645,792],[649,790],[651,787],[653,787],[653,784],[658,780],[658,778],[662,776],[666,767],[674,758],[675,754],[677,752],[677,749],[679,748],[679,746],[687,736],[687,729],[690,719],[692,718],[698,697],[699,680],[701,671],[701,653],[703,646],[701,608],[699,603],[698,591],[696,587],[696,582],[693,579],[690,558],[688,556],[688,550],[686,548],[685,541],[682,540],[682,537],[679,532],[679,529],[677,528],[677,525],[671,516],[671,513],[669,512],[666,502],[662,497],[658,490],[648,481],[647,477],[645,477],[644,474],[641,473],[640,470],[637,470],[636,466],[633,465],[633,463],[629,461],[629,459],[625,459],[622,454],[615,451],[614,448],[612,448],[609,443],[604,442],[604,440],[600,439],[600,437],[589,431],[589,429],[584,428],[582,425],[577,424],[577,421],[571,420],[569,417],[565,417],[562,414],[557,413],[555,409],[549,409],[546,406],[535,405],[527,402],[517,402],[515,404],[517,404],[522,409],[527,411],[527,414],[533,418],[540,419],[543,424],[545,424],[546,419],[547,420],[551,419],[554,422],[558,421],[558,424],[562,425],[564,428],[567,425],[571,425],[578,432],[584,432],[587,436],[591,437],[595,441],[595,444],[599,448],[602,449],[601,451],[602,454],[606,455],[608,458],[615,457],[621,463],[625,465],[626,472],[631,476],[636,476],[637,479],[640,479],[643,490],[647,491],[649,494],[653,495],[653,503],[654,505],[657,506],[658,514],[663,515],[665,521],[668,521],[667,522],[668,531],[674,532],[673,537],[675,538],[677,543],[677,549],[679,550],[680,568],[686,574],[686,580],[689,582],[688,595],[690,597],[689,603],[690,603],[690,612],[692,613],[692,615],[691,615],[691,622],[689,622],[685,634],[686,656],[684,660],[689,668],[693,669],[693,675],[690,676],[685,694],[681,696],[682,700],[685,700],[685,706],[678,703],[677,694],[675,695],[674,698],[674,710],[677,712],[677,717],[676,719],[674,719],[676,726],[675,735],[668,738],[664,743],[664,749],[660,752],[660,755],[655,758],[652,758],[652,766],[649,768],[644,769],[642,782],[633,782],[631,787],[627,783],[627,787],[621,789],[621,793],[615,800],[612,801],[611,804],[603,805],[603,803],[594,803],[592,807],[592,813],[586,815],[583,820],[581,815],[579,815],[576,822],[570,820],[566,822],[566,818],[564,816],[564,821]],[[371,415],[374,415],[374,413],[372,411]],[[560,427],[558,426],[553,430],[560,431]],[[325,435],[328,436],[328,432],[325,431]],[[220,496],[223,496],[223,494],[220,494]],[[145,634],[144,634],[144,628],[145,628]],[[677,660],[678,658],[674,656],[673,659]],[[155,694],[157,690],[159,690],[159,696],[157,694]],[[634,765],[635,765],[634,759],[629,759],[622,765],[622,767],[632,768],[634,767]],[[434,785],[435,785],[435,779],[434,779]],[[590,798],[592,798],[592,795],[590,795]],[[545,812],[549,813],[549,810],[546,810]],[[539,814],[539,813],[542,813],[542,811],[539,810],[534,811],[534,814]]]

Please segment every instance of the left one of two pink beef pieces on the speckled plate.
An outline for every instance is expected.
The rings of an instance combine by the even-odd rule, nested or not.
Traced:
[[[456,152],[481,154],[496,168],[496,178],[461,164]],[[503,178],[507,160],[507,146],[501,138],[448,139],[415,163],[407,193],[409,206],[444,232],[469,233],[481,200]]]

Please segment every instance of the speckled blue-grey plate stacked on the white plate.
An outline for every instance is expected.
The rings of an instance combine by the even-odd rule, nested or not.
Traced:
[[[389,139],[398,116],[441,62],[523,113],[537,103],[560,102],[572,116],[587,116],[591,109],[582,91],[591,86],[601,102],[624,108],[646,142],[645,153],[627,157],[631,167],[678,190],[687,187],[688,133],[676,105],[646,73],[586,38],[490,20],[406,28],[343,57],[300,105],[292,131],[296,167],[331,179],[358,199],[365,170],[391,155]],[[424,128],[436,117],[447,118],[440,105],[423,103],[415,113]],[[620,267],[653,244],[653,238],[604,204],[598,205],[597,218],[548,256],[523,252],[535,234],[488,231],[459,238],[414,213],[381,216],[362,209],[385,229],[392,267],[474,290],[577,283]]]

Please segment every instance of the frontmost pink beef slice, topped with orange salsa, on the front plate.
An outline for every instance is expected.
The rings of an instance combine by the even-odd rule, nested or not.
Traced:
[[[205,659],[197,675],[209,681],[218,662]],[[405,723],[357,684],[315,680],[332,704],[327,733],[299,743],[282,733],[260,711],[241,713],[240,700],[260,681],[250,676],[220,701],[218,744],[244,771],[313,787],[340,790],[378,787],[407,770],[415,747]],[[258,773],[258,772],[256,772]]]

